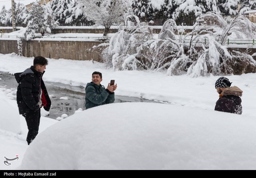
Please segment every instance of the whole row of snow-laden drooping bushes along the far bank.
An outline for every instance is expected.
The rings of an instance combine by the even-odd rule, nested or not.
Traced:
[[[145,35],[149,38],[140,43],[133,35],[120,30],[110,40],[107,57],[112,58],[114,70],[142,68],[191,77],[242,74],[246,68],[256,69],[249,49],[241,52],[226,46],[231,34],[238,38],[256,37],[256,25],[249,19],[240,16],[227,23],[217,12],[207,12],[196,19],[192,32],[183,32],[173,19],[164,23],[158,39]],[[242,71],[234,68],[239,65],[244,67]]]

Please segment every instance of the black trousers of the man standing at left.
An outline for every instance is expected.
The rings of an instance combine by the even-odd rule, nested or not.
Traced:
[[[22,114],[23,117],[25,117],[27,126],[28,126],[28,136],[27,136],[27,142],[28,145],[36,138],[36,135],[38,134],[39,130],[39,123],[40,123],[40,109],[37,111],[34,110],[20,110],[20,114]]]

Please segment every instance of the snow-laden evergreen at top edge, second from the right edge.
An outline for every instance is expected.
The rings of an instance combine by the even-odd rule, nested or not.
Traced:
[[[221,15],[236,15],[239,0],[218,0]]]

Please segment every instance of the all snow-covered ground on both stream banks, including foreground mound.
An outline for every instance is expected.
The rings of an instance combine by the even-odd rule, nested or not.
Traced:
[[[213,111],[219,98],[214,84],[220,76],[114,72],[95,61],[48,60],[44,81],[85,87],[92,72],[99,71],[103,85],[116,81],[116,95],[159,104],[82,108],[60,121],[41,117],[39,134],[28,146],[28,129],[13,90],[2,86],[0,169],[255,169],[256,74],[226,76],[231,86],[244,91],[243,113],[235,115]],[[0,72],[14,74],[30,67],[33,58],[0,54],[0,63]],[[9,161],[11,166],[4,164],[4,157],[16,155],[19,159]]]

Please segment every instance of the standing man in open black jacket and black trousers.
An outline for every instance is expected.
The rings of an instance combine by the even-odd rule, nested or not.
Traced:
[[[51,100],[42,79],[48,60],[42,56],[34,58],[34,65],[24,72],[14,74],[19,83],[17,88],[17,104],[20,114],[25,117],[28,126],[28,145],[38,134],[40,108],[50,110]]]

